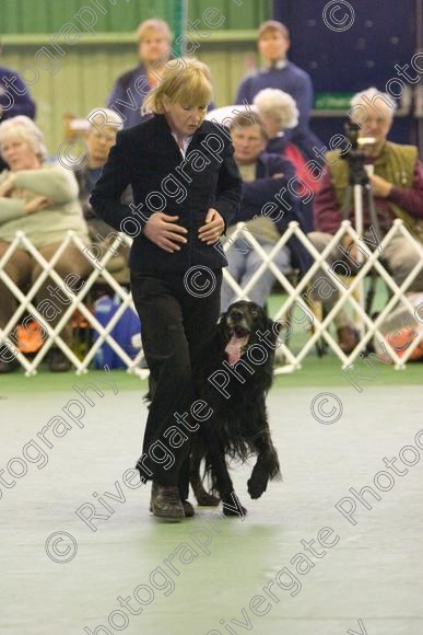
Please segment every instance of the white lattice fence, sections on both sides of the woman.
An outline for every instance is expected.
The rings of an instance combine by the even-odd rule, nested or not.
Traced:
[[[237,236],[243,235],[243,232],[246,231],[246,226],[244,223],[238,223],[234,234],[231,236],[231,241],[227,241],[224,245],[224,250],[228,251],[234,249],[233,244]],[[313,332],[310,330],[309,337],[306,343],[303,345],[301,350],[293,351],[291,350],[282,340],[281,349],[286,359],[286,367],[285,369],[279,369],[277,372],[283,372],[284,370],[294,370],[299,369],[302,365],[302,360],[314,349],[316,342],[319,338],[324,338],[328,345],[328,347],[337,355],[340,359],[343,368],[351,365],[357,356],[361,355],[362,350],[366,347],[367,343],[376,335],[376,337],[380,342],[385,342],[386,349],[391,355],[396,368],[403,368],[409,359],[410,355],[413,353],[416,346],[419,346],[422,334],[419,334],[410,346],[407,348],[402,356],[398,355],[398,351],[390,345],[389,342],[386,342],[384,338],[384,334],[380,332],[380,325],[383,324],[384,320],[387,315],[390,314],[393,308],[398,305],[402,305],[407,309],[410,313],[415,314],[415,307],[410,302],[407,297],[407,291],[410,288],[411,282],[418,276],[419,272],[423,267],[423,258],[416,263],[415,267],[410,272],[407,279],[398,286],[390,274],[384,268],[383,264],[380,263],[380,255],[384,253],[384,250],[387,245],[389,245],[395,239],[395,236],[403,236],[414,249],[421,250],[421,245],[415,241],[415,239],[410,234],[407,230],[402,221],[396,220],[390,231],[386,234],[380,244],[378,245],[379,249],[371,252],[368,247],[362,242],[360,242],[360,246],[366,253],[366,259],[362,263],[361,268],[359,269],[357,275],[352,279],[352,282],[348,288],[337,278],[337,276],[331,277],[331,282],[338,288],[339,290],[339,299],[328,313],[321,321],[314,314],[310,313],[309,303],[307,301],[308,298],[308,290],[309,285],[313,282],[314,277],[319,270],[322,268],[325,270],[330,269],[330,264],[327,262],[327,257],[330,254],[331,250],[340,244],[340,241],[343,236],[349,235],[351,236],[352,241],[359,241],[360,236],[355,232],[355,230],[351,227],[349,221],[343,221],[339,231],[336,235],[332,236],[329,244],[325,247],[325,250],[319,253],[316,247],[312,244],[306,234],[299,229],[298,223],[291,222],[285,233],[280,238],[279,242],[274,245],[273,250],[268,254],[263,251],[260,243],[256,240],[256,238],[250,233],[247,232],[245,234],[247,236],[248,244],[250,245],[251,250],[259,255],[262,261],[262,264],[255,273],[254,277],[249,280],[245,288],[240,288],[237,281],[231,276],[227,269],[224,269],[224,279],[234,290],[238,299],[249,299],[248,293],[251,289],[257,285],[260,280],[261,275],[265,273],[267,268],[269,268],[274,277],[278,279],[282,288],[284,289],[286,296],[281,296],[281,304],[278,308],[277,313],[273,315],[275,320],[286,320],[286,316],[290,314],[290,310],[293,311],[295,305],[299,305],[305,314],[309,316],[309,322],[313,322]],[[289,278],[281,273],[278,266],[274,264],[274,258],[279,251],[286,244],[286,242],[295,235],[304,247],[310,253],[314,264],[310,269],[302,277],[299,282],[294,287]],[[117,236],[110,247],[106,251],[103,257],[96,262],[96,266],[93,267],[92,273],[86,278],[85,284],[80,292],[72,293],[67,289],[63,285],[63,280],[55,270],[55,265],[58,262],[59,257],[67,249],[68,245],[71,243],[75,244],[79,250],[85,255],[89,262],[92,263],[92,258],[86,254],[85,245],[75,235],[73,232],[69,232],[67,239],[60,245],[60,249],[56,252],[55,256],[51,258],[50,262],[47,262],[38,250],[31,243],[31,241],[25,236],[23,232],[16,232],[14,241],[11,243],[8,251],[4,253],[3,257],[0,259],[0,278],[2,281],[8,286],[11,292],[15,296],[19,307],[14,314],[10,318],[8,324],[4,325],[4,328],[0,330],[0,345],[4,345],[7,348],[12,349],[14,347],[14,343],[11,340],[10,336],[16,324],[19,324],[20,320],[22,319],[23,314],[27,311],[30,312],[36,320],[40,321],[48,333],[48,338],[46,339],[44,346],[38,350],[35,357],[32,360],[28,360],[25,355],[22,353],[17,354],[17,359],[21,365],[25,369],[25,373],[27,376],[32,376],[36,373],[36,370],[47,355],[49,348],[55,344],[56,346],[60,347],[63,354],[68,357],[71,361],[78,374],[84,373],[87,371],[90,363],[93,361],[93,358],[102,346],[103,343],[107,343],[116,355],[124,361],[127,366],[129,372],[137,373],[141,378],[148,376],[149,371],[139,368],[139,361],[142,355],[142,351],[139,353],[136,359],[131,359],[128,354],[121,348],[121,346],[110,335],[114,326],[119,321],[120,316],[125,312],[128,307],[131,307],[134,310],[133,302],[131,295],[126,291],[113,277],[113,275],[107,272],[106,265],[109,259],[116,254],[116,250],[122,244],[122,242],[130,244],[130,239],[126,238],[124,234]],[[13,284],[11,278],[4,272],[4,265],[9,262],[11,257],[13,257],[14,252],[17,249],[26,250],[34,259],[42,267],[42,274],[35,281],[32,289],[25,296],[17,287]],[[371,268],[374,267],[377,272],[378,276],[385,281],[387,287],[391,290],[391,298],[388,300],[386,307],[379,313],[376,320],[372,320],[371,316],[366,315],[363,301],[362,301],[362,288],[363,281],[365,276],[368,274]],[[67,304],[66,309],[63,310],[60,321],[57,323],[55,327],[51,327],[46,320],[39,314],[37,307],[34,303],[34,299],[37,296],[37,292],[43,285],[44,280],[47,277],[54,279],[54,281],[59,285],[70,300],[69,304]],[[102,324],[96,320],[90,309],[86,307],[86,298],[90,293],[91,289],[94,285],[98,281],[98,279],[107,282],[109,287],[115,291],[116,296],[120,299],[121,303],[113,315],[111,320],[107,323],[104,327]],[[359,289],[361,291],[359,293],[359,300],[354,297],[354,291]],[[362,328],[361,328],[361,338],[355,347],[355,349],[351,353],[351,355],[346,356],[341,348],[339,347],[338,343],[333,338],[330,332],[330,325],[333,321],[334,315],[340,311],[345,303],[350,303],[354,309],[355,314],[359,316]],[[97,338],[91,348],[86,351],[84,359],[79,359],[75,354],[70,349],[70,347],[63,342],[60,333],[63,326],[67,324],[69,319],[74,313],[75,309],[78,309],[81,314],[85,318],[86,322],[89,323],[90,327],[96,332]]]

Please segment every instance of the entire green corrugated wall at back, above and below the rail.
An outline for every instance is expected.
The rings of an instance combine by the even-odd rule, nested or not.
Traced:
[[[37,103],[36,122],[46,135],[51,154],[63,139],[63,115],[86,117],[92,108],[104,106],[117,77],[137,66],[132,34],[139,22],[161,16],[172,23],[175,14],[172,0],[117,0],[115,7],[108,0],[98,0],[108,10],[95,25],[96,28],[102,25],[103,31],[81,37],[73,46],[61,43],[66,55],[59,55],[49,39],[66,23],[77,24],[74,15],[93,1],[0,0],[0,33],[4,35],[1,65],[31,80],[36,53],[45,46],[54,56],[51,68],[55,64],[57,72],[38,69],[38,81],[30,86]],[[200,47],[196,54],[211,67],[216,105],[232,104],[240,79],[250,70],[251,59],[257,59],[254,32],[270,16],[270,0],[244,0],[242,7],[233,0],[190,0],[189,16],[201,18],[212,7],[222,12],[225,22],[219,31],[202,25],[211,36],[198,38]]]

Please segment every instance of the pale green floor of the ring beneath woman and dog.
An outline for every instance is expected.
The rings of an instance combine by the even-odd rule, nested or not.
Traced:
[[[270,391],[283,481],[251,500],[251,464],[233,464],[234,487],[248,509],[244,520],[197,508],[193,519],[177,524],[152,517],[150,487],[130,487],[124,476],[140,453],[146,416],[136,379],[114,373],[114,393],[98,373],[5,378],[0,471],[10,485],[13,470],[16,482],[1,483],[0,632],[422,635],[423,461],[414,460],[421,388],[375,381],[359,394],[341,385],[338,371],[330,359],[310,361]],[[412,369],[384,371],[384,381],[411,376],[416,379]],[[86,389],[89,381],[104,395],[89,393],[84,426],[73,424],[62,437],[46,432],[79,396],[72,385]],[[310,414],[324,392],[317,385],[342,401],[333,425]],[[19,460],[32,439],[47,463],[27,462],[22,474]],[[28,453],[34,460],[34,449]],[[379,500],[367,495],[371,509],[357,501],[352,524],[336,504],[354,500],[351,487],[375,488],[384,457],[398,455],[410,465],[404,475],[395,475],[389,490],[380,481]],[[402,467],[398,459],[396,467]],[[81,509],[89,517],[93,509],[94,529]]]

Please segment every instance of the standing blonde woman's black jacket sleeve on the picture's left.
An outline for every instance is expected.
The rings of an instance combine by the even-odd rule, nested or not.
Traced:
[[[133,219],[141,229],[146,222],[139,215],[134,216],[129,205],[121,203],[121,195],[130,182],[128,149],[125,146],[120,131],[90,197],[90,204],[96,215],[118,231],[125,231],[121,224],[126,218]]]

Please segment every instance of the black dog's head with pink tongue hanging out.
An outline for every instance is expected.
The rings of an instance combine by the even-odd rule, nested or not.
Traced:
[[[235,363],[252,344],[274,350],[281,324],[270,320],[259,304],[242,300],[221,315],[220,328],[228,361]]]

